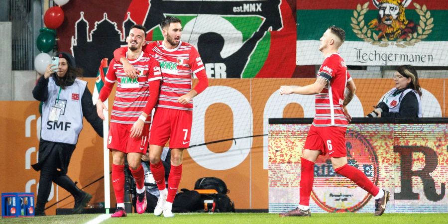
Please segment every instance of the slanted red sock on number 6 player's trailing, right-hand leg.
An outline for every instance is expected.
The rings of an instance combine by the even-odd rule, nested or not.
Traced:
[[[336,173],[352,180],[353,182],[356,183],[356,185],[366,190],[371,195],[375,196],[378,194],[379,188],[375,186],[372,183],[372,181],[370,181],[369,178],[367,178],[367,176],[365,176],[365,174],[362,171],[352,166],[349,166],[348,164],[345,164],[335,169],[335,171]]]

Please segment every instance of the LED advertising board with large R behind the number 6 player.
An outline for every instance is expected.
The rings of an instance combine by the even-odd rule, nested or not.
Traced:
[[[269,212],[299,202],[300,158],[312,118],[269,119]],[[447,118],[354,118],[347,160],[391,193],[387,213],[447,213]],[[330,157],[314,165],[313,212],[373,212],[373,197],[338,175]]]

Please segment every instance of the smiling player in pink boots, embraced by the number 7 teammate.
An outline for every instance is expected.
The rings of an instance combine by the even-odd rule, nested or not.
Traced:
[[[126,38],[126,58],[137,72],[135,78],[129,78],[123,66],[114,59],[109,64],[106,82],[97,102],[97,112],[104,120],[103,110],[107,111],[104,101],[109,97],[116,82],[116,94],[113,101],[111,128],[108,148],[112,151],[112,185],[117,202],[117,210],[112,217],[126,217],[124,211],[124,155],[137,184],[136,209],[138,214],[146,210],[144,172],[140,164],[141,156],[148,148],[151,111],[154,108],[160,88],[159,63],[143,53],[146,28],[140,24],[131,26]]]

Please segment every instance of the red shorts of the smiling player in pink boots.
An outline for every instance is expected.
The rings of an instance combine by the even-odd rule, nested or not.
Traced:
[[[148,149],[149,124],[143,125],[140,137],[131,138],[133,124],[111,122],[109,127],[108,148],[124,153],[138,152],[145,154]]]

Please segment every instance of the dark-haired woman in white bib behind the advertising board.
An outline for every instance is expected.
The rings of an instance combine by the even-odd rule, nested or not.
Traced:
[[[368,117],[422,117],[422,91],[417,71],[402,65],[394,73],[395,87],[387,92]]]

